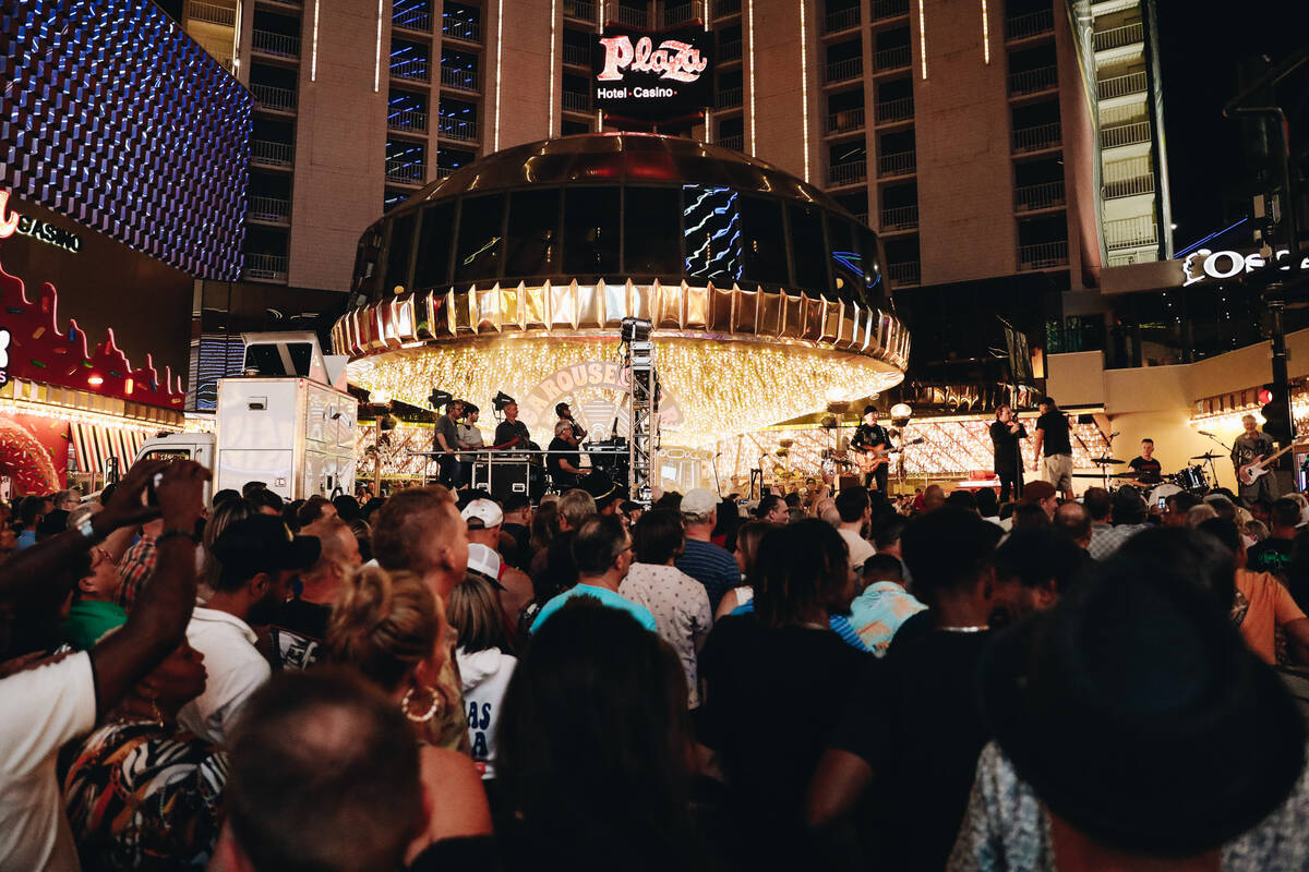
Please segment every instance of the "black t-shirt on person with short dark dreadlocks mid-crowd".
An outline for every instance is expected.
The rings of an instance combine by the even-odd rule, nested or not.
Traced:
[[[729,616],[699,656],[699,739],[721,754],[733,813],[798,828],[804,797],[872,656],[827,629],[763,628]]]

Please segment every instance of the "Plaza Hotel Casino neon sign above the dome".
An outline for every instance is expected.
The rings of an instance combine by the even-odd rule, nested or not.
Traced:
[[[596,107],[610,115],[669,120],[712,101],[708,34],[683,27],[649,35],[606,27],[592,50]]]

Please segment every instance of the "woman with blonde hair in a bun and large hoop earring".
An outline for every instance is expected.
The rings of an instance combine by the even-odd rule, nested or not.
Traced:
[[[418,575],[363,566],[346,579],[332,607],[327,658],[357,668],[389,694],[414,726],[423,761],[427,833],[410,846],[412,862],[444,839],[491,835],[482,778],[467,754],[440,746],[452,714],[466,723],[439,680],[450,652],[441,600]],[[466,727],[461,727],[466,733]],[[431,860],[425,856],[424,860]]]

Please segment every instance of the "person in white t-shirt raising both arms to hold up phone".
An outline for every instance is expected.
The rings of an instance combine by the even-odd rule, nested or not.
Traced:
[[[156,505],[148,506],[143,494],[156,476]],[[37,620],[21,605],[33,588],[71,591],[94,544],[122,527],[164,519],[154,573],[120,630],[90,651],[0,679],[0,869],[79,868],[55,760],[62,745],[96,726],[97,703],[99,711],[113,709],[185,638],[195,603],[194,529],[208,477],[191,461],[136,464],[103,511],[0,565],[0,603],[17,605],[18,620]]]

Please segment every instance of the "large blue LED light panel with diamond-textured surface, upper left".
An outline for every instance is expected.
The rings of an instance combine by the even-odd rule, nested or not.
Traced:
[[[149,0],[0,0],[0,186],[241,277],[254,98]]]

